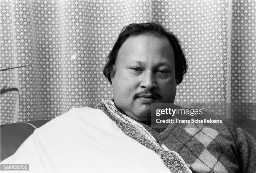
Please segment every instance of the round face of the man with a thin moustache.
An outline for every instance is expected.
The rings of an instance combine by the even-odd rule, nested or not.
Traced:
[[[165,36],[128,37],[113,68],[114,102],[134,120],[150,120],[152,102],[174,102],[174,51]]]

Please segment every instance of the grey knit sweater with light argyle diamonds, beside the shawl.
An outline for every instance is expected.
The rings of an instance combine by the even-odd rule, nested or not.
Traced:
[[[141,124],[160,145],[179,153],[194,173],[256,173],[256,140],[231,122],[171,123],[163,132]]]

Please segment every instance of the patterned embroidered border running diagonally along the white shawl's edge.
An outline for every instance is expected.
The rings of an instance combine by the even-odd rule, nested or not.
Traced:
[[[159,155],[171,173],[192,173],[178,153],[170,151],[165,145],[160,146],[145,127],[118,111],[112,100],[104,100],[100,104],[97,104],[95,108],[105,112],[126,135],[137,140]]]

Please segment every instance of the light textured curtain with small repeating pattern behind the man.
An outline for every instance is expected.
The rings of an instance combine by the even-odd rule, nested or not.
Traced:
[[[0,89],[19,90],[0,95],[0,124],[112,98],[106,56],[123,26],[150,21],[177,35],[188,61],[176,102],[256,103],[255,13],[254,0],[0,0],[0,70],[25,66],[0,71]],[[221,107],[256,119],[245,104]]]

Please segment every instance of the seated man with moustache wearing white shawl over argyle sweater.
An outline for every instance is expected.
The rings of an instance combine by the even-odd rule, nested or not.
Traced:
[[[173,103],[186,71],[172,33],[156,23],[126,26],[104,68],[114,99],[56,117],[2,164],[29,164],[31,172],[255,172],[256,142],[239,128],[151,128],[151,103]]]

